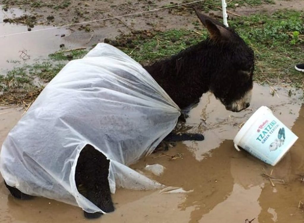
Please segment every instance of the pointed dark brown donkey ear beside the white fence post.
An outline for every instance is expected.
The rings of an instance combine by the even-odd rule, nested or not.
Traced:
[[[232,33],[219,21],[203,15],[197,9],[195,9],[196,15],[203,25],[208,29],[210,38],[216,41],[229,41],[232,37]]]

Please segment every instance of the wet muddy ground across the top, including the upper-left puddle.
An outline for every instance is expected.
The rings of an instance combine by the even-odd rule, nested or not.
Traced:
[[[89,20],[98,20],[110,18],[112,16],[121,16],[128,13],[142,12],[147,9],[161,8],[164,5],[170,5],[172,1],[161,2],[141,2],[133,3],[129,1],[116,0],[112,1],[110,7],[107,1],[84,2],[80,5],[77,2],[71,2],[67,9],[54,10],[52,7],[29,7],[29,5],[21,5],[9,8],[8,11],[2,9],[0,5],[0,35],[9,35],[0,37],[0,71],[10,70],[16,66],[35,63],[37,59],[47,59],[47,55],[60,50],[60,45],[64,44],[67,49],[79,47],[92,47],[94,43],[103,42],[105,38],[115,38],[119,34],[127,34],[132,30],[167,30],[187,28],[193,29],[193,22],[197,21],[195,13],[192,11],[178,11],[176,9],[164,9],[157,12],[144,13],[138,16],[126,16],[120,20],[112,19],[81,26],[69,26],[63,28],[50,29],[72,24],[76,22],[86,22]],[[43,0],[40,3],[48,5],[50,2]],[[174,3],[182,3],[178,0]],[[55,3],[54,3],[55,4]],[[191,5],[187,7],[192,7]],[[233,9],[238,15],[250,15],[257,12],[273,12],[277,9],[295,9],[303,8],[302,0],[282,1],[275,0],[275,4],[263,4],[258,7],[237,7]],[[26,10],[26,11],[24,11]],[[79,16],[77,13],[85,13],[85,16]],[[222,12],[210,11],[215,16],[221,16]],[[19,16],[35,15],[37,23],[28,31],[28,27],[24,24],[10,24],[3,22],[4,19],[13,19]],[[49,20],[49,16],[53,16]],[[230,17],[235,15],[229,14]],[[75,17],[79,21],[75,21]],[[49,24],[49,25],[47,25]],[[85,31],[85,26],[89,25],[90,32]],[[36,30],[45,29],[36,32]],[[80,29],[80,30],[79,30]],[[22,33],[20,35],[10,35]],[[64,36],[63,36],[64,35]],[[5,55],[2,55],[5,52]],[[42,56],[43,55],[43,56]]]

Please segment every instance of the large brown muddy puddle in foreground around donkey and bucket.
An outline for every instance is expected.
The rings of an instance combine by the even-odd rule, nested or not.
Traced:
[[[188,193],[118,189],[113,195],[115,212],[90,222],[244,223],[254,218],[253,223],[303,222],[303,209],[298,208],[299,201],[304,201],[304,184],[298,175],[304,173],[303,92],[291,89],[288,96],[290,88],[275,89],[277,94],[272,95],[271,88],[256,84],[251,110],[240,113],[226,111],[212,95],[204,95],[186,123],[189,131],[202,132],[204,141],[180,142],[166,155],[154,153],[132,166]],[[233,147],[238,125],[262,105],[269,106],[299,137],[275,167]],[[21,111],[16,109],[0,110],[0,143],[20,117]],[[154,176],[144,170],[146,164],[161,164],[165,171]],[[272,186],[261,175],[262,168],[288,184]],[[0,222],[70,221],[87,222],[78,207],[44,198],[16,200],[0,179]]]

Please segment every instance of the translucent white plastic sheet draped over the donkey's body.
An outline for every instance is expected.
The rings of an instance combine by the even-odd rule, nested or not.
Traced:
[[[178,106],[139,63],[101,43],[69,62],[9,132],[1,174],[26,194],[103,212],[76,188],[81,149],[91,144],[110,160],[112,193],[116,186],[160,188],[127,165],[151,153],[179,115]]]

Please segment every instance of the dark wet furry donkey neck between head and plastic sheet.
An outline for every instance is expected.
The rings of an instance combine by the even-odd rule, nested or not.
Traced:
[[[200,42],[170,59],[144,67],[181,109],[197,103],[209,90],[208,42]]]

